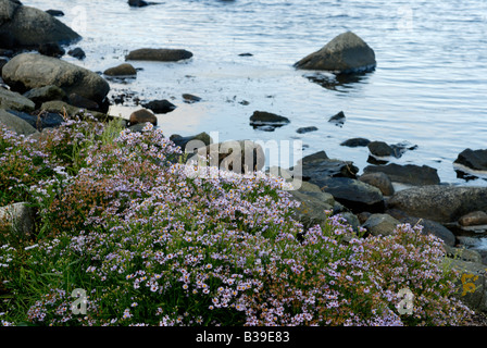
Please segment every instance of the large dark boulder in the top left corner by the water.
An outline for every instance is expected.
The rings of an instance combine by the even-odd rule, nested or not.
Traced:
[[[41,44],[71,44],[80,36],[45,11],[0,0],[0,36],[8,34],[17,48],[37,48]]]

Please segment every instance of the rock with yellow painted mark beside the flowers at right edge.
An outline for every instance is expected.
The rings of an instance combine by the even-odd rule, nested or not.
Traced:
[[[455,294],[463,303],[474,311],[487,311],[485,264],[446,258],[448,268],[459,273]]]

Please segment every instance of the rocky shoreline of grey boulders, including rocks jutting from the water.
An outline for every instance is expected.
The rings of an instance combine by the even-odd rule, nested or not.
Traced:
[[[130,7],[154,3],[128,1]],[[60,15],[59,12],[52,13]],[[26,21],[32,26],[23,25]],[[3,57],[0,59],[3,85],[0,87],[0,123],[18,134],[39,137],[45,129],[64,122],[66,114],[88,112],[100,121],[111,120],[114,116],[108,114],[109,82],[113,77],[136,76],[137,70],[130,61],[192,59],[192,53],[186,50],[143,48],[129,52],[126,62],[98,74],[59,58],[64,54],[63,45],[79,39],[79,35],[54,15],[24,7],[16,0],[0,0],[0,55]],[[33,53],[33,50],[37,52]],[[83,59],[84,52],[79,50],[68,54]],[[353,55],[347,50],[353,51]],[[370,72],[375,65],[374,51],[350,32],[295,64],[296,69],[326,70],[337,74]],[[192,95],[185,95],[184,99],[188,103],[200,100]],[[142,107],[124,120],[134,132],[140,132],[146,122],[157,125],[157,114],[176,108],[167,100],[153,100]],[[340,125],[345,120],[346,115],[340,112],[329,121]],[[290,122],[266,111],[249,115],[251,126],[269,132]],[[305,127],[298,133],[315,129]],[[182,148],[191,140],[200,141],[201,148],[212,145],[208,134],[173,135],[171,139]],[[224,148],[223,144],[217,146],[218,149]],[[351,161],[330,159],[321,151],[304,157],[295,167],[278,169],[280,175],[297,182],[297,189],[291,195],[302,204],[296,217],[310,227],[323,223],[327,216],[325,211],[330,211],[332,214],[341,214],[355,229],[364,228],[371,235],[388,235],[401,223],[420,224],[424,233],[444,240],[447,254],[457,269],[477,276],[475,290],[466,294],[465,300],[474,309],[487,311],[487,249],[480,243],[480,238],[487,237],[487,185],[446,185],[433,167],[390,163],[403,152],[413,151],[414,146],[388,145],[366,138],[350,139],[342,146],[367,147],[372,165],[358,175],[360,169]],[[255,160],[253,169],[262,170],[262,149],[255,144],[250,144],[250,147],[246,144],[241,148],[240,159],[251,152]],[[218,154],[215,163],[225,166],[227,157],[228,152]],[[469,175],[475,175],[475,171],[487,171],[487,150],[465,149],[452,164],[460,173],[467,170]]]

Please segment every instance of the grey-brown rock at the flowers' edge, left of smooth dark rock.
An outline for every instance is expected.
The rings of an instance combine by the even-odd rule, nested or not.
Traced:
[[[294,217],[302,223],[304,228],[324,225],[327,219],[325,211],[332,211],[335,204],[332,195],[321,191],[313,195],[297,190],[291,190],[289,194],[294,200],[301,202],[300,207],[296,209]]]

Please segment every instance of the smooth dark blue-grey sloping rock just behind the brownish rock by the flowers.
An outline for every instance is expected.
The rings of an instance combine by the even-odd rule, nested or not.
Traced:
[[[350,177],[323,177],[310,181],[353,213],[384,211],[384,197],[377,187]]]

